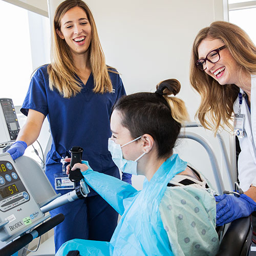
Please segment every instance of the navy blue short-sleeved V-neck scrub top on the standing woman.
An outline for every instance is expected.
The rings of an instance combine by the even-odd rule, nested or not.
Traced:
[[[61,157],[70,156],[72,146],[83,148],[82,159],[88,160],[94,170],[119,176],[108,151],[108,138],[111,137],[112,107],[118,98],[125,95],[125,90],[118,74],[109,72],[109,75],[112,93],[94,93],[91,74],[86,85],[78,79],[82,90],[69,99],[63,98],[55,89],[50,90],[47,65],[40,67],[32,77],[20,111],[27,116],[29,109],[32,109],[48,118],[53,143],[47,155],[46,174],[52,184],[53,173],[62,172]],[[63,192],[67,193],[67,190]]]

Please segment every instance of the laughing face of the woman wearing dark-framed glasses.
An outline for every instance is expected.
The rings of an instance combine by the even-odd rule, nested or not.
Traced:
[[[203,59],[212,50],[218,49],[224,45],[220,39],[203,39],[198,46],[198,57]],[[232,57],[229,50],[224,48],[219,52],[220,59],[216,63],[211,63],[206,60],[205,72],[209,76],[217,80],[221,85],[224,84],[237,84],[239,82],[239,65]]]

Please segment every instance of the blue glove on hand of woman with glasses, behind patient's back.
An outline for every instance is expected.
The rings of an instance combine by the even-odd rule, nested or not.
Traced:
[[[216,202],[216,225],[222,226],[233,220],[247,217],[256,210],[256,202],[245,194],[240,197],[221,195],[215,197]]]

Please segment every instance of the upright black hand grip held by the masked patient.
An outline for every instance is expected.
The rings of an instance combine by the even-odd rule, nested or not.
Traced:
[[[75,163],[82,162],[83,148],[80,146],[73,146],[69,152],[71,153],[69,179],[73,182],[78,182],[83,178],[80,172],[80,169],[76,169],[76,170],[71,170],[71,169]]]

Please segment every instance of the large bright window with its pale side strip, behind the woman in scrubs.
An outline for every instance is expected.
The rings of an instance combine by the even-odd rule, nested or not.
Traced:
[[[14,105],[22,105],[33,70],[49,63],[49,18],[0,1],[0,22],[0,98],[11,98]],[[43,46],[38,49],[36,40],[42,37]]]

